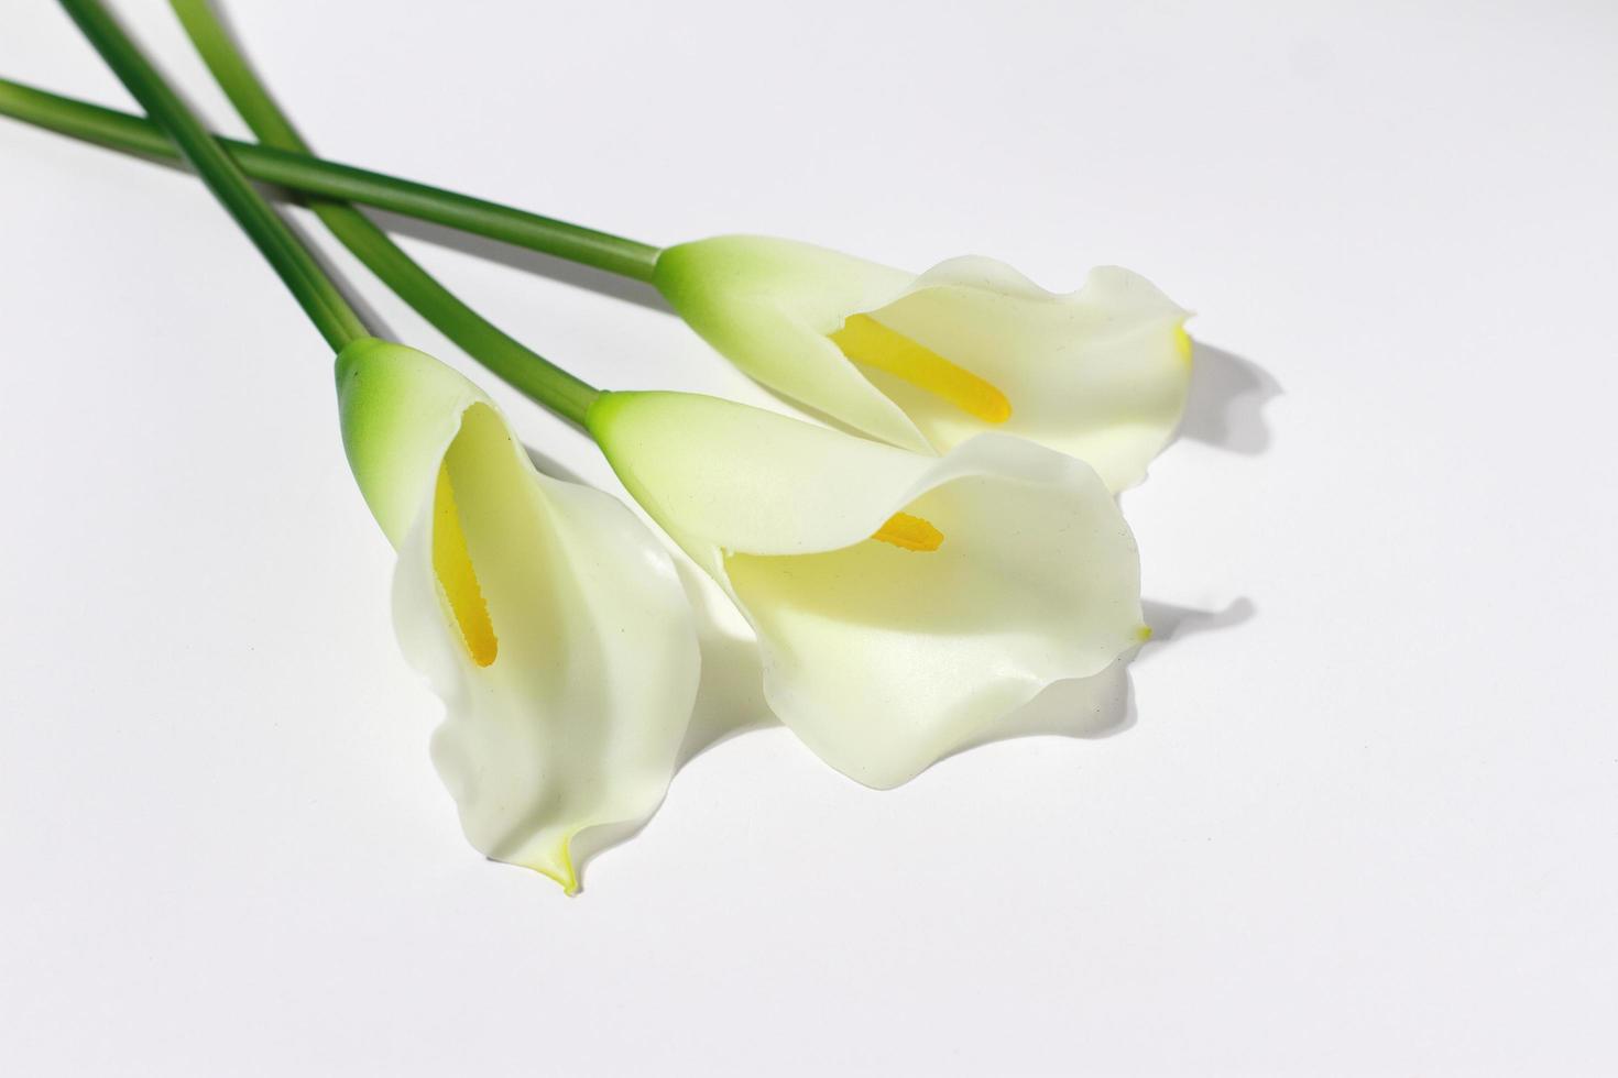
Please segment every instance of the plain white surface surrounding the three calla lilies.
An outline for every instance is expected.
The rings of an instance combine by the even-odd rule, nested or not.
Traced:
[[[1110,735],[890,794],[726,740],[565,899],[460,837],[320,339],[191,178],[0,121],[0,1070],[1618,1073],[1618,8],[228,15],[341,160],[652,242],[1150,276],[1202,344],[1125,499],[1165,640]],[[49,3],[0,73],[129,100]],[[597,383],[783,407],[639,288],[414,231]]]

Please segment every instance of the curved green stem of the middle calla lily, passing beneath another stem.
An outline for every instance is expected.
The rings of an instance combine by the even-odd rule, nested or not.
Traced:
[[[172,6],[204,63],[254,134],[265,145],[307,154],[309,147],[214,16],[209,0],[172,0]],[[584,415],[599,396],[597,390],[531,351],[461,302],[369,217],[349,204],[314,197],[309,199],[309,208],[354,257],[477,362],[539,404],[584,425]]]

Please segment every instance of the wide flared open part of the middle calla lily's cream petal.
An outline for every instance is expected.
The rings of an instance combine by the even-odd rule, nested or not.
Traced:
[[[937,527],[937,551],[867,538],[726,558],[770,706],[822,760],[898,785],[1139,643],[1128,525],[1092,470],[1052,456],[998,435],[961,446],[893,507]]]

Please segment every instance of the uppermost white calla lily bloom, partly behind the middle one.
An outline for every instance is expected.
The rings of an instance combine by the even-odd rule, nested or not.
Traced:
[[[993,430],[1087,461],[1118,491],[1184,412],[1189,312],[1118,267],[1060,296],[992,259],[916,276],[718,236],[663,249],[652,281],[744,372],[904,449],[943,453]]]

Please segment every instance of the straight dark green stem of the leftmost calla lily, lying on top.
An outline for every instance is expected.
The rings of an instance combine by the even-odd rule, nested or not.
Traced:
[[[61,6],[79,24],[79,29],[129,89],[129,94],[168,133],[178,152],[202,176],[202,183],[214,191],[241,229],[264,252],[264,257],[280,273],[286,288],[332,349],[341,351],[349,341],[369,336],[359,315],[337,291],[337,284],[325,275],[314,255],[275,215],[275,210],[252,187],[236,162],[214,141],[214,136],[197,121],[150,61],[141,55],[141,50],[107,10],[97,0],[61,0]]]

